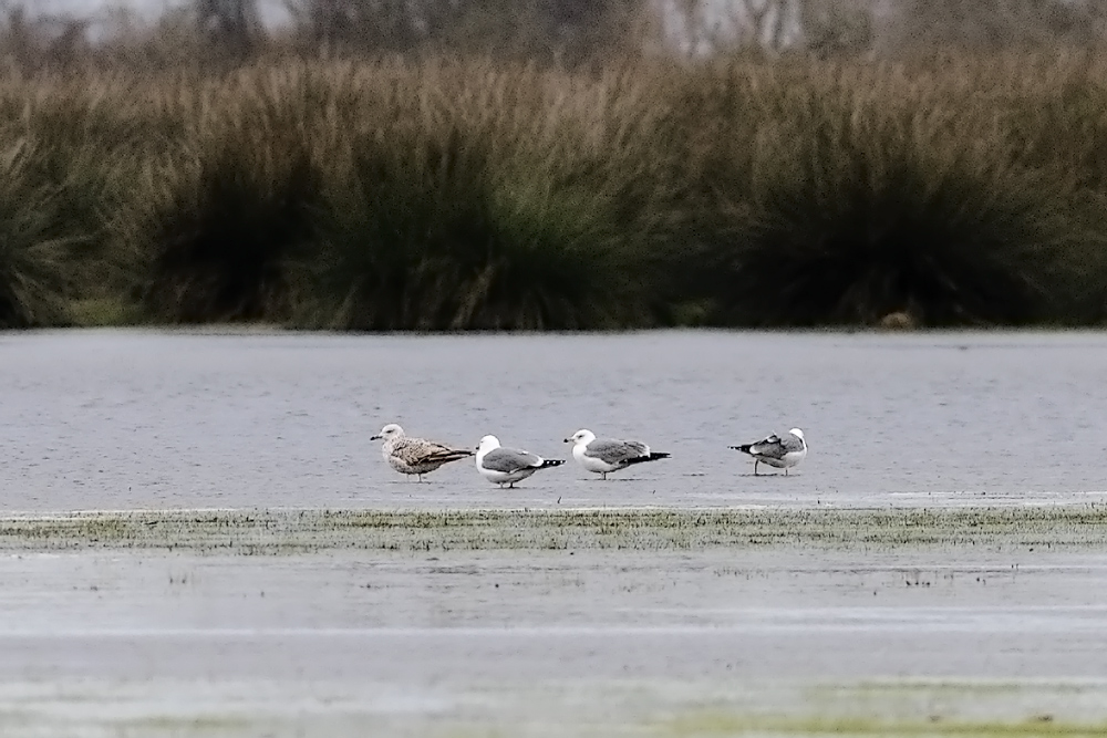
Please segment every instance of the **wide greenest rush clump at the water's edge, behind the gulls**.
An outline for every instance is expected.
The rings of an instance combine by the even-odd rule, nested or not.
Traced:
[[[363,136],[300,264],[298,322],[355,330],[565,330],[630,322],[640,298],[610,206],[513,176],[454,128]]]

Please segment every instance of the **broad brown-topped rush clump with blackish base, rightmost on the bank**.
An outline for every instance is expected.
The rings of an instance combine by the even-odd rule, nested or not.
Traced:
[[[1092,320],[1103,233],[1087,227],[1073,177],[1021,164],[972,111],[871,94],[840,81],[780,92],[783,115],[762,123],[706,208],[716,320]]]

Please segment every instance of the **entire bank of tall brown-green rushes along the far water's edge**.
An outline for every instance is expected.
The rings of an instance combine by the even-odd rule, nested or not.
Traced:
[[[0,324],[1089,325],[1107,60],[0,81]]]

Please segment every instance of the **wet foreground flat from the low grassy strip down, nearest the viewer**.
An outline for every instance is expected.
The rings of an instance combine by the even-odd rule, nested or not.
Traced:
[[[1099,736],[1107,507],[0,518],[4,736]]]

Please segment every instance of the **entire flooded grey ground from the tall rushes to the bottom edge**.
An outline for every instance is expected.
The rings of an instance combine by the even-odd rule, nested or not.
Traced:
[[[1107,734],[1098,334],[92,331],[0,356],[4,737]],[[368,440],[389,422],[673,456],[420,485]],[[725,448],[793,425],[787,478]]]

